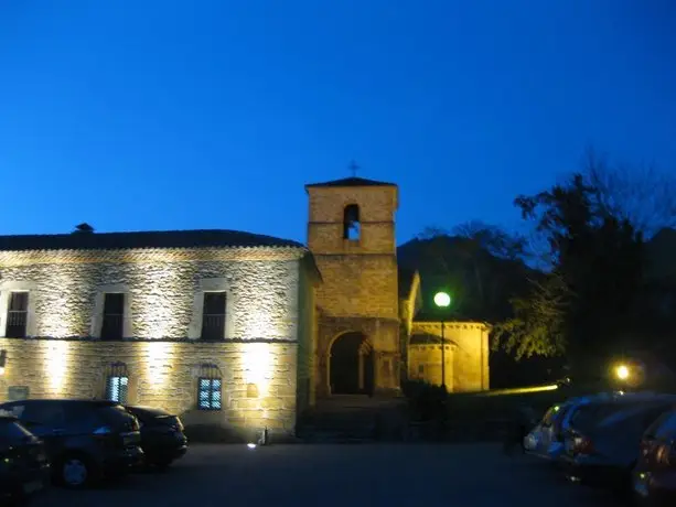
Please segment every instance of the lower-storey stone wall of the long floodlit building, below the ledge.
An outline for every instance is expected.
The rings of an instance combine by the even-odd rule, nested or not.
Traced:
[[[294,343],[0,338],[7,352],[0,400],[17,386],[28,387],[30,398],[103,398],[109,371],[124,365],[129,403],[161,407],[187,427],[218,427],[234,436],[250,438],[265,427],[291,435],[297,348]],[[197,409],[197,379],[205,370],[223,380],[222,410]]]

